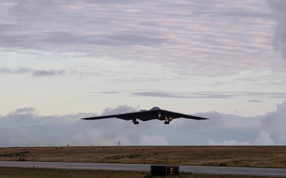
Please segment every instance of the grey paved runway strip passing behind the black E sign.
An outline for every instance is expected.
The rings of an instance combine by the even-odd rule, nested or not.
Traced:
[[[65,162],[19,162],[0,161],[0,166],[52,168],[52,169],[81,169],[81,170],[127,170],[150,171],[150,165],[143,164],[110,164],[110,163],[65,163]],[[195,174],[229,174],[229,175],[260,175],[286,177],[286,169],[279,168],[250,168],[250,167],[218,167],[218,166],[187,166],[179,165],[180,171]]]

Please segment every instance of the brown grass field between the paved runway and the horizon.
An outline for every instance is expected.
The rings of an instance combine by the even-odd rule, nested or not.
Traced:
[[[0,148],[0,160],[134,164],[286,167],[286,146],[16,147]]]

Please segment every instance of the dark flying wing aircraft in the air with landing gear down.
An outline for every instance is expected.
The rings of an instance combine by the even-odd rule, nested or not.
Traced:
[[[124,120],[132,120],[134,124],[139,124],[137,119],[141,121],[149,121],[153,119],[159,119],[161,121],[165,121],[165,124],[169,124],[175,118],[187,118],[187,119],[195,119],[195,120],[204,120],[207,118],[201,118],[197,116],[191,116],[187,114],[175,113],[167,110],[160,109],[159,107],[153,107],[150,110],[140,110],[138,112],[133,113],[123,113],[123,114],[115,114],[108,116],[96,116],[92,118],[82,118],[85,120],[96,120],[96,119],[106,119],[106,118],[119,118]]]

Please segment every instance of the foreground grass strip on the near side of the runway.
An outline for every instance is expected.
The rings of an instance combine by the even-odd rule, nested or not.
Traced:
[[[0,167],[0,178],[151,178],[148,172],[135,171],[109,171],[109,170],[60,170],[41,168],[10,168]],[[181,174],[180,178],[271,178],[250,175],[207,175],[207,174]],[[277,177],[276,177],[277,178]]]

